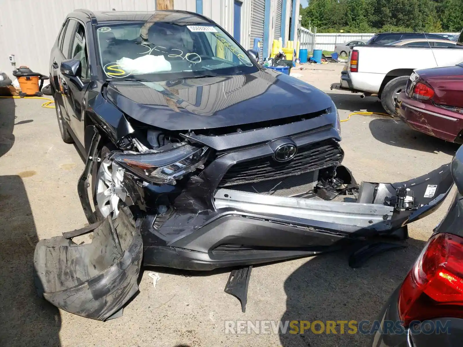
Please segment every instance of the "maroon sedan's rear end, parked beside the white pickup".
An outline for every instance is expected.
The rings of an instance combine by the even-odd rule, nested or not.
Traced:
[[[463,62],[416,70],[395,107],[399,117],[413,129],[463,143]]]

